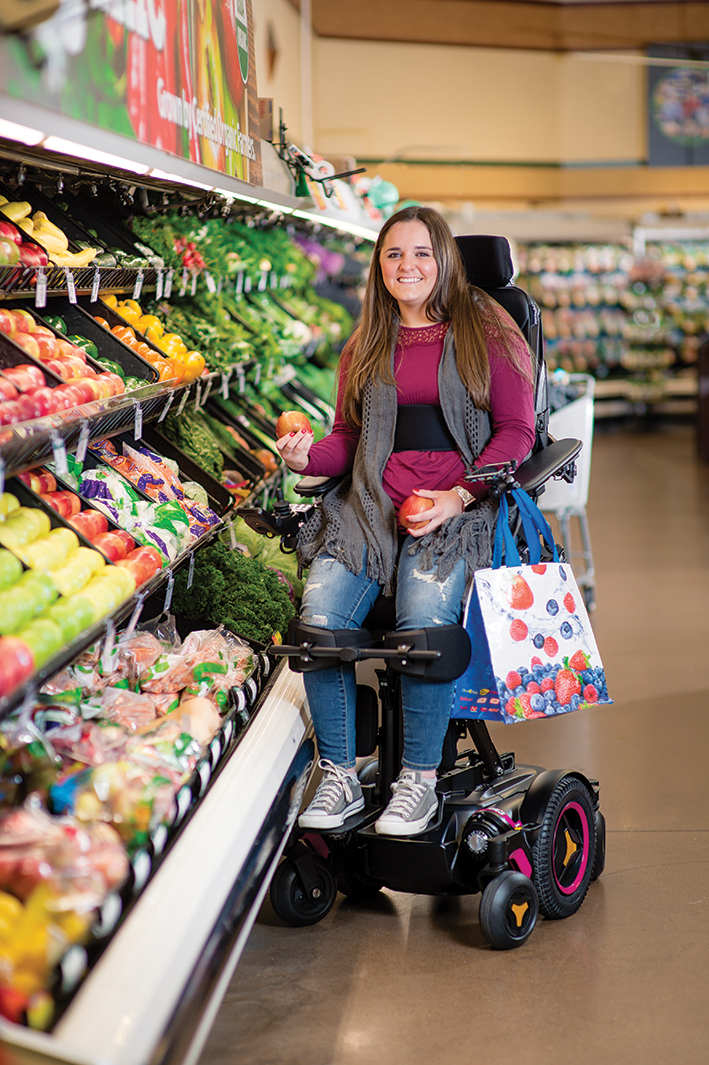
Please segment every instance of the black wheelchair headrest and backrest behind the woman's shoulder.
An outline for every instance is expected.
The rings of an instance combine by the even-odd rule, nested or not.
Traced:
[[[471,284],[482,289],[505,308],[513,322],[516,322],[531,348],[534,359],[534,413],[537,415],[537,440],[533,450],[540,450],[548,443],[549,427],[549,397],[540,309],[524,289],[512,284],[514,265],[510,242],[506,236],[478,235],[476,233],[457,236],[456,244]]]

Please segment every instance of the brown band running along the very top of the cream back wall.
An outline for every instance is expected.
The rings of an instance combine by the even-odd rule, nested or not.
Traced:
[[[709,42],[709,3],[698,0],[310,0],[310,6],[319,36],[359,40],[551,51]]]

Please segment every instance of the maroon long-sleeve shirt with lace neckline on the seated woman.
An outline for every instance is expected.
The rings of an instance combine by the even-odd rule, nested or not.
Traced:
[[[399,406],[408,404],[440,404],[439,363],[443,355],[445,325],[426,326],[422,329],[399,327],[399,339],[394,356],[394,377]],[[534,442],[534,403],[532,386],[515,370],[499,337],[493,329],[488,332],[490,359],[490,417],[492,437],[475,460],[476,466],[508,459],[522,461]],[[517,345],[524,359],[529,361],[526,344],[513,332],[508,333]],[[343,419],[342,397],[351,361],[353,341],[345,345],[340,359],[337,403],[332,431],[313,444],[309,463],[302,471],[309,477],[334,477],[349,473],[360,439]],[[394,506],[411,495],[413,489],[445,491],[455,485],[466,488],[476,498],[482,498],[487,487],[482,481],[464,479],[465,465],[457,450],[451,452],[394,452],[390,457],[382,484]]]

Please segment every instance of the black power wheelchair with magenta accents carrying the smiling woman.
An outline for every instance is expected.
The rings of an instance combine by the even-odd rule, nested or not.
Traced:
[[[548,437],[540,313],[533,300],[510,283],[508,242],[494,236],[457,240],[469,279],[512,314],[535,360],[532,455],[516,471],[502,463],[477,470],[475,477],[487,479],[497,497],[517,487],[537,497],[550,477],[573,478],[581,444]],[[314,497],[314,504],[294,507],[281,501],[271,512],[254,508],[242,510],[242,515],[258,531],[280,536],[284,550],[293,548],[310,507],[335,484],[303,478],[297,491]],[[524,559],[521,523],[514,517],[511,522]],[[333,632],[294,619],[286,642],[270,651],[288,656],[295,671],[368,659],[381,662],[375,670],[378,691],[358,684],[358,775],[364,810],[327,832],[294,829],[270,885],[273,907],[285,923],[321,920],[337,890],[360,899],[382,887],[433,896],[480,891],[482,933],[492,947],[506,950],[527,940],[540,913],[556,919],[578,910],[605,865],[598,783],[576,770],[517,766],[514,754],[498,753],[482,721],[451,718],[431,824],[418,835],[400,838],[375,831],[401,765],[399,677],[406,672],[429,679],[460,676],[471,653],[460,625],[396,632],[393,600],[380,596],[361,629]],[[460,752],[465,737],[473,748]]]

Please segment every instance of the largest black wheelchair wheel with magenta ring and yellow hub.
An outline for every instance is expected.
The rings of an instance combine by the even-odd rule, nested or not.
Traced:
[[[571,917],[586,898],[596,857],[596,824],[589,789],[562,776],[544,812],[532,866],[539,907],[545,917]]]

